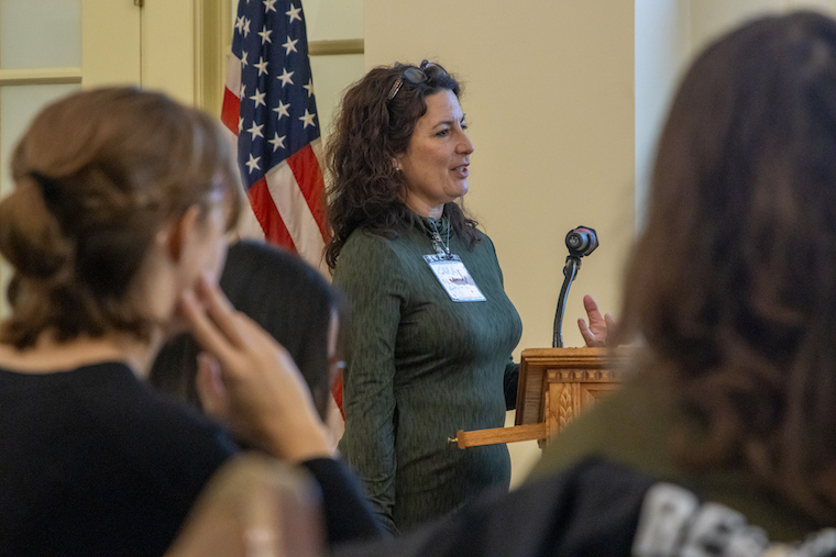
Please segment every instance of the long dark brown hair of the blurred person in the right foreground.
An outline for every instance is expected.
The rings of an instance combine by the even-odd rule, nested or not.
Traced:
[[[756,20],[692,65],[659,141],[623,325],[705,424],[696,469],[743,463],[836,520],[836,22]]]

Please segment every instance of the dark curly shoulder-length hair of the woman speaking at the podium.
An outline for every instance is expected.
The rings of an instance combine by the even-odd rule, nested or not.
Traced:
[[[427,60],[420,66],[427,80],[413,83],[403,79],[408,67],[399,63],[378,66],[349,88],[342,99],[326,146],[328,221],[332,234],[326,247],[326,263],[331,269],[355,230],[362,227],[392,238],[416,219],[404,202],[406,183],[392,159],[406,152],[416,122],[427,112],[427,97],[442,90],[459,97],[461,88],[441,66]],[[400,88],[389,100],[398,79],[403,79]],[[447,203],[443,214],[457,234],[474,244],[477,223],[460,203]]]

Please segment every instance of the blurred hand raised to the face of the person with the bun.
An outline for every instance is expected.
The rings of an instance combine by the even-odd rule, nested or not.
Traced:
[[[205,278],[184,294],[182,309],[205,350],[197,386],[207,413],[278,458],[332,455],[310,391],[280,344]]]

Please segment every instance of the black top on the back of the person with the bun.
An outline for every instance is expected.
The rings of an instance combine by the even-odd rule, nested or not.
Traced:
[[[123,364],[0,370],[0,555],[162,555],[237,450]]]

